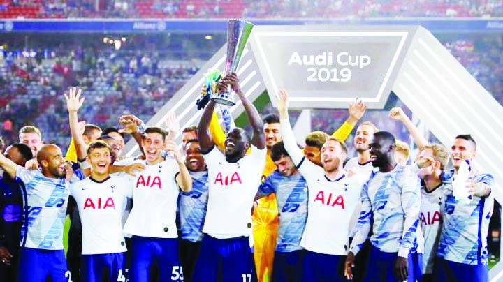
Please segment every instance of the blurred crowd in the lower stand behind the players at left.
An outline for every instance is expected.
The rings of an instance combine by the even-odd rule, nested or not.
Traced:
[[[97,54],[97,55],[96,55]],[[163,59],[166,53],[76,47],[55,57],[8,55],[0,59],[0,135],[15,142],[22,124],[36,124],[48,142],[66,147],[68,114],[62,91],[78,85],[87,103],[81,118],[116,126],[122,114],[134,111],[150,119],[202,64]]]

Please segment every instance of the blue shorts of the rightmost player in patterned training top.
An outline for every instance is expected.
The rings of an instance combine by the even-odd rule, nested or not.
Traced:
[[[444,258],[435,258],[433,281],[487,282],[489,269],[487,265],[466,265]]]

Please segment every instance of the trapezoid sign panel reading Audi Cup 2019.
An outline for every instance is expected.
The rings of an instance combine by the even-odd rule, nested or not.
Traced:
[[[265,86],[288,89],[292,107],[347,107],[360,97],[381,108],[416,29],[256,27],[250,43]]]

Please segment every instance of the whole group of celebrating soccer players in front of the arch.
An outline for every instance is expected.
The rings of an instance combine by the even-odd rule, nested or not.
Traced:
[[[214,101],[182,129],[182,144],[174,114],[165,128],[128,114],[102,131],[78,121],[85,99],[75,87],[64,94],[73,161],[24,126],[0,154],[0,280],[488,281],[495,182],[469,165],[471,135],[455,136],[450,151],[428,144],[393,108],[391,122],[418,147],[407,165],[407,144],[360,121],[366,106],[356,101],[335,133],[309,133],[301,148],[285,90],[279,115],[263,122],[234,73],[217,91],[228,86],[251,135],[224,133]],[[121,156],[124,134],[140,156]],[[279,215],[261,216],[266,205]],[[266,225],[272,232],[258,232]]]

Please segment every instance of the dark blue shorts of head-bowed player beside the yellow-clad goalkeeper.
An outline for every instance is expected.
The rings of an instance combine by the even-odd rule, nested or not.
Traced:
[[[302,281],[302,260],[305,251],[275,252],[272,267],[272,281],[300,282]]]

